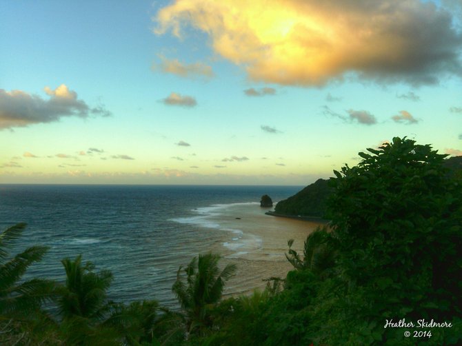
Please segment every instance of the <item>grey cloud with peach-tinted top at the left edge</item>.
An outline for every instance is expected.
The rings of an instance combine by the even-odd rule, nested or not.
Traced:
[[[66,116],[110,115],[102,106],[90,108],[85,101],[77,99],[77,92],[69,90],[64,84],[54,90],[49,87],[44,90],[50,99],[21,90],[7,92],[0,89],[0,129],[51,123]]]

